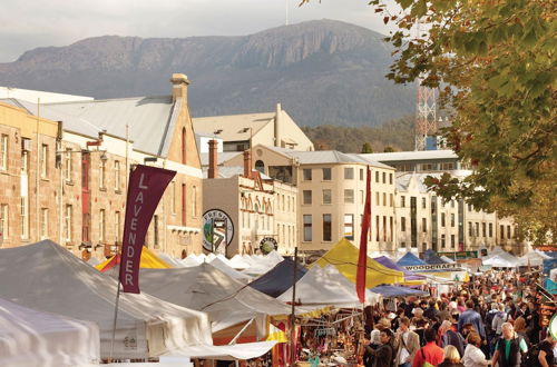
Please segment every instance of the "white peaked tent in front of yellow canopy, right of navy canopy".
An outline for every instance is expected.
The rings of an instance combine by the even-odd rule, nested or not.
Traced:
[[[277,297],[282,301],[292,301],[290,288]],[[344,277],[334,266],[324,268],[314,266],[296,282],[296,301],[305,306],[361,307],[355,285]],[[365,289],[365,302],[374,305],[380,296]]]

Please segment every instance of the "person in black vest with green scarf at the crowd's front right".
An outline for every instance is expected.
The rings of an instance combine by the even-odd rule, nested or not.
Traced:
[[[512,324],[502,324],[502,337],[495,345],[494,357],[491,364],[498,364],[499,367],[519,367],[521,356],[528,351],[528,346],[525,339],[519,338],[515,333]]]

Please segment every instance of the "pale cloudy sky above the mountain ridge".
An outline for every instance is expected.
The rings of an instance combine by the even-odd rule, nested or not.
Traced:
[[[367,0],[10,0],[0,11],[0,62],[37,47],[88,37],[241,36],[312,19],[336,19],[381,33]]]

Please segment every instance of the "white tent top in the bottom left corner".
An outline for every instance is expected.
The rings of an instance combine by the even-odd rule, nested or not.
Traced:
[[[99,360],[99,329],[94,323],[0,298],[0,366],[86,366]]]

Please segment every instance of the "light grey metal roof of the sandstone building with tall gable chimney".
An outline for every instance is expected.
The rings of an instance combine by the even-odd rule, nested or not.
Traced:
[[[37,103],[18,100],[30,113],[37,115]],[[137,97],[108,100],[40,105],[40,116],[62,121],[63,130],[98,137],[98,132],[125,138],[128,126],[134,149],[166,156],[169,136],[180,106],[170,96]],[[176,112],[174,112],[176,110]]]

